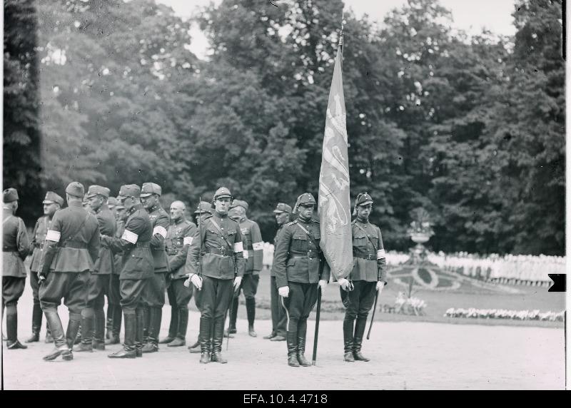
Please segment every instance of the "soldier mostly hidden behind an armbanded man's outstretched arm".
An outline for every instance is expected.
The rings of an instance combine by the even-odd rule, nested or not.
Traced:
[[[109,199],[111,200],[110,197]],[[123,232],[125,231],[125,220],[127,213],[125,206],[116,200],[116,205],[113,207],[115,213],[115,220],[117,224],[117,229],[115,232],[115,238],[121,238]],[[119,339],[119,334],[121,333],[121,320],[123,317],[123,311],[121,310],[121,283],[119,276],[121,269],[123,269],[123,253],[117,252],[113,254],[113,272],[111,272],[111,277],[109,279],[109,295],[108,295],[108,306],[107,306],[107,318],[111,316],[111,333],[108,330],[108,339],[105,340],[106,345],[116,345],[121,340]]]

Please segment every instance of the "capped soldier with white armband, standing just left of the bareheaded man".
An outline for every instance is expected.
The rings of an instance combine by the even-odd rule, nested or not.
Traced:
[[[161,186],[155,183],[143,183],[141,190],[141,203],[148,211],[153,223],[153,238],[151,239],[151,253],[153,254],[155,273],[148,281],[143,292],[145,304],[146,344],[143,353],[158,352],[158,332],[161,331],[161,319],[165,304],[166,274],[168,263],[165,252],[166,229],[171,221],[168,214],[161,207],[158,198],[161,197]]]

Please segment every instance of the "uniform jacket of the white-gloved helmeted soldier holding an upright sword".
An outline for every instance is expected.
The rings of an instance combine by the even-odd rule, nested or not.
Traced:
[[[221,231],[216,228],[220,227]],[[225,237],[230,243],[226,243]],[[228,216],[221,217],[216,212],[201,218],[201,228],[196,233],[186,256],[186,274],[201,273],[217,279],[233,279],[244,275],[244,244],[240,225]],[[223,254],[216,252],[223,252]],[[202,254],[202,255],[201,255]],[[199,257],[201,255],[201,265]],[[236,273],[235,273],[236,270]]]

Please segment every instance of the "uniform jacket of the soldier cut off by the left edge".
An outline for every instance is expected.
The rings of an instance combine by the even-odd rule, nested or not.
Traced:
[[[30,241],[24,221],[4,209],[2,220],[2,276],[26,277],[24,260],[30,251]]]

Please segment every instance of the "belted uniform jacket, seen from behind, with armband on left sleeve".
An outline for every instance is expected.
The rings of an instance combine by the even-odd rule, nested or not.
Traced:
[[[95,215],[84,210],[81,203],[69,203],[51,220],[38,272],[93,272],[99,248]]]

